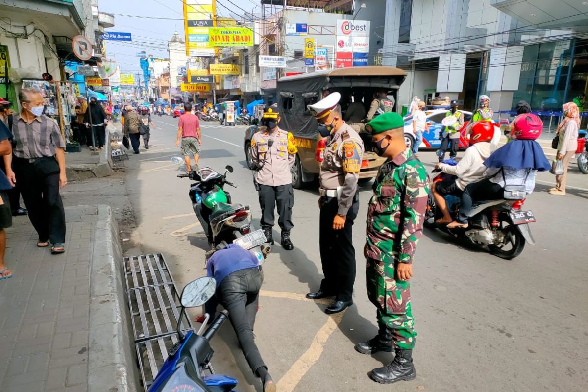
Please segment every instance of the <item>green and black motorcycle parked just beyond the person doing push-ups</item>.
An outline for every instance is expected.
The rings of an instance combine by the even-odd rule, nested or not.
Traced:
[[[172,162],[183,164],[179,157],[174,157]],[[251,225],[249,206],[231,204],[230,193],[223,187],[226,184],[236,188],[226,179],[227,173],[233,172],[233,167],[227,165],[225,169],[221,175],[210,167],[201,167],[178,177],[188,177],[194,181],[188,195],[212,251],[222,249],[228,243],[239,243],[242,247],[248,247],[258,260],[262,260],[272,252],[272,246],[267,242],[263,230],[255,230]]]

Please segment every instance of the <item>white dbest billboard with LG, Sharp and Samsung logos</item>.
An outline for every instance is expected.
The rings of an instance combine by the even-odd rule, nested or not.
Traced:
[[[368,65],[370,21],[338,19],[335,26],[336,67]]]

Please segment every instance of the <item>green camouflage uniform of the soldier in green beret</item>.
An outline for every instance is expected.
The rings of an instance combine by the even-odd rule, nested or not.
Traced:
[[[397,347],[412,350],[416,331],[410,282],[397,280],[395,269],[397,263],[412,264],[423,230],[429,177],[407,149],[380,167],[373,190],[366,223],[368,297],[377,307],[378,323],[392,330]]]

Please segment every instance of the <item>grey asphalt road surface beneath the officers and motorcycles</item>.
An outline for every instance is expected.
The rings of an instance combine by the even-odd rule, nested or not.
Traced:
[[[155,118],[152,148],[126,162],[126,184],[136,216],[131,240],[146,253],[162,252],[183,285],[205,274],[206,240],[188,198],[183,166],[171,162],[177,120]],[[245,127],[203,123],[201,166],[232,165],[233,202],[248,204],[259,223],[259,202],[243,155]],[[421,154],[432,168],[432,152]],[[419,333],[414,352],[417,378],[393,386],[367,373],[389,354],[362,356],[353,345],[376,333],[376,310],[365,290],[365,220],[370,185],[361,186],[353,239],[358,276],[354,305],[329,317],[325,304],[305,300],[322,279],[318,247],[318,193],[295,190],[295,250],[274,247],[263,266],[264,290],[256,341],[280,392],[306,391],[580,391],[588,383],[588,176],[573,167],[567,196],[552,196],[553,176],[542,173],[525,207],[537,222],[537,244],[515,260],[502,260],[443,233],[425,230],[412,279],[412,306]],[[259,225],[258,225],[259,226]],[[275,236],[279,228],[275,227]],[[193,314],[197,314],[196,309]],[[229,323],[213,340],[217,373],[239,379],[239,391],[260,391]],[[235,366],[236,364],[236,366]]]

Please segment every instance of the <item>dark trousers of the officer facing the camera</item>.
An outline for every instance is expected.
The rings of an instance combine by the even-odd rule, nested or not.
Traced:
[[[292,184],[269,186],[259,184],[259,205],[261,206],[261,226],[273,227],[275,207],[278,206],[278,225],[283,232],[292,227],[292,207],[294,206],[294,189]]]

